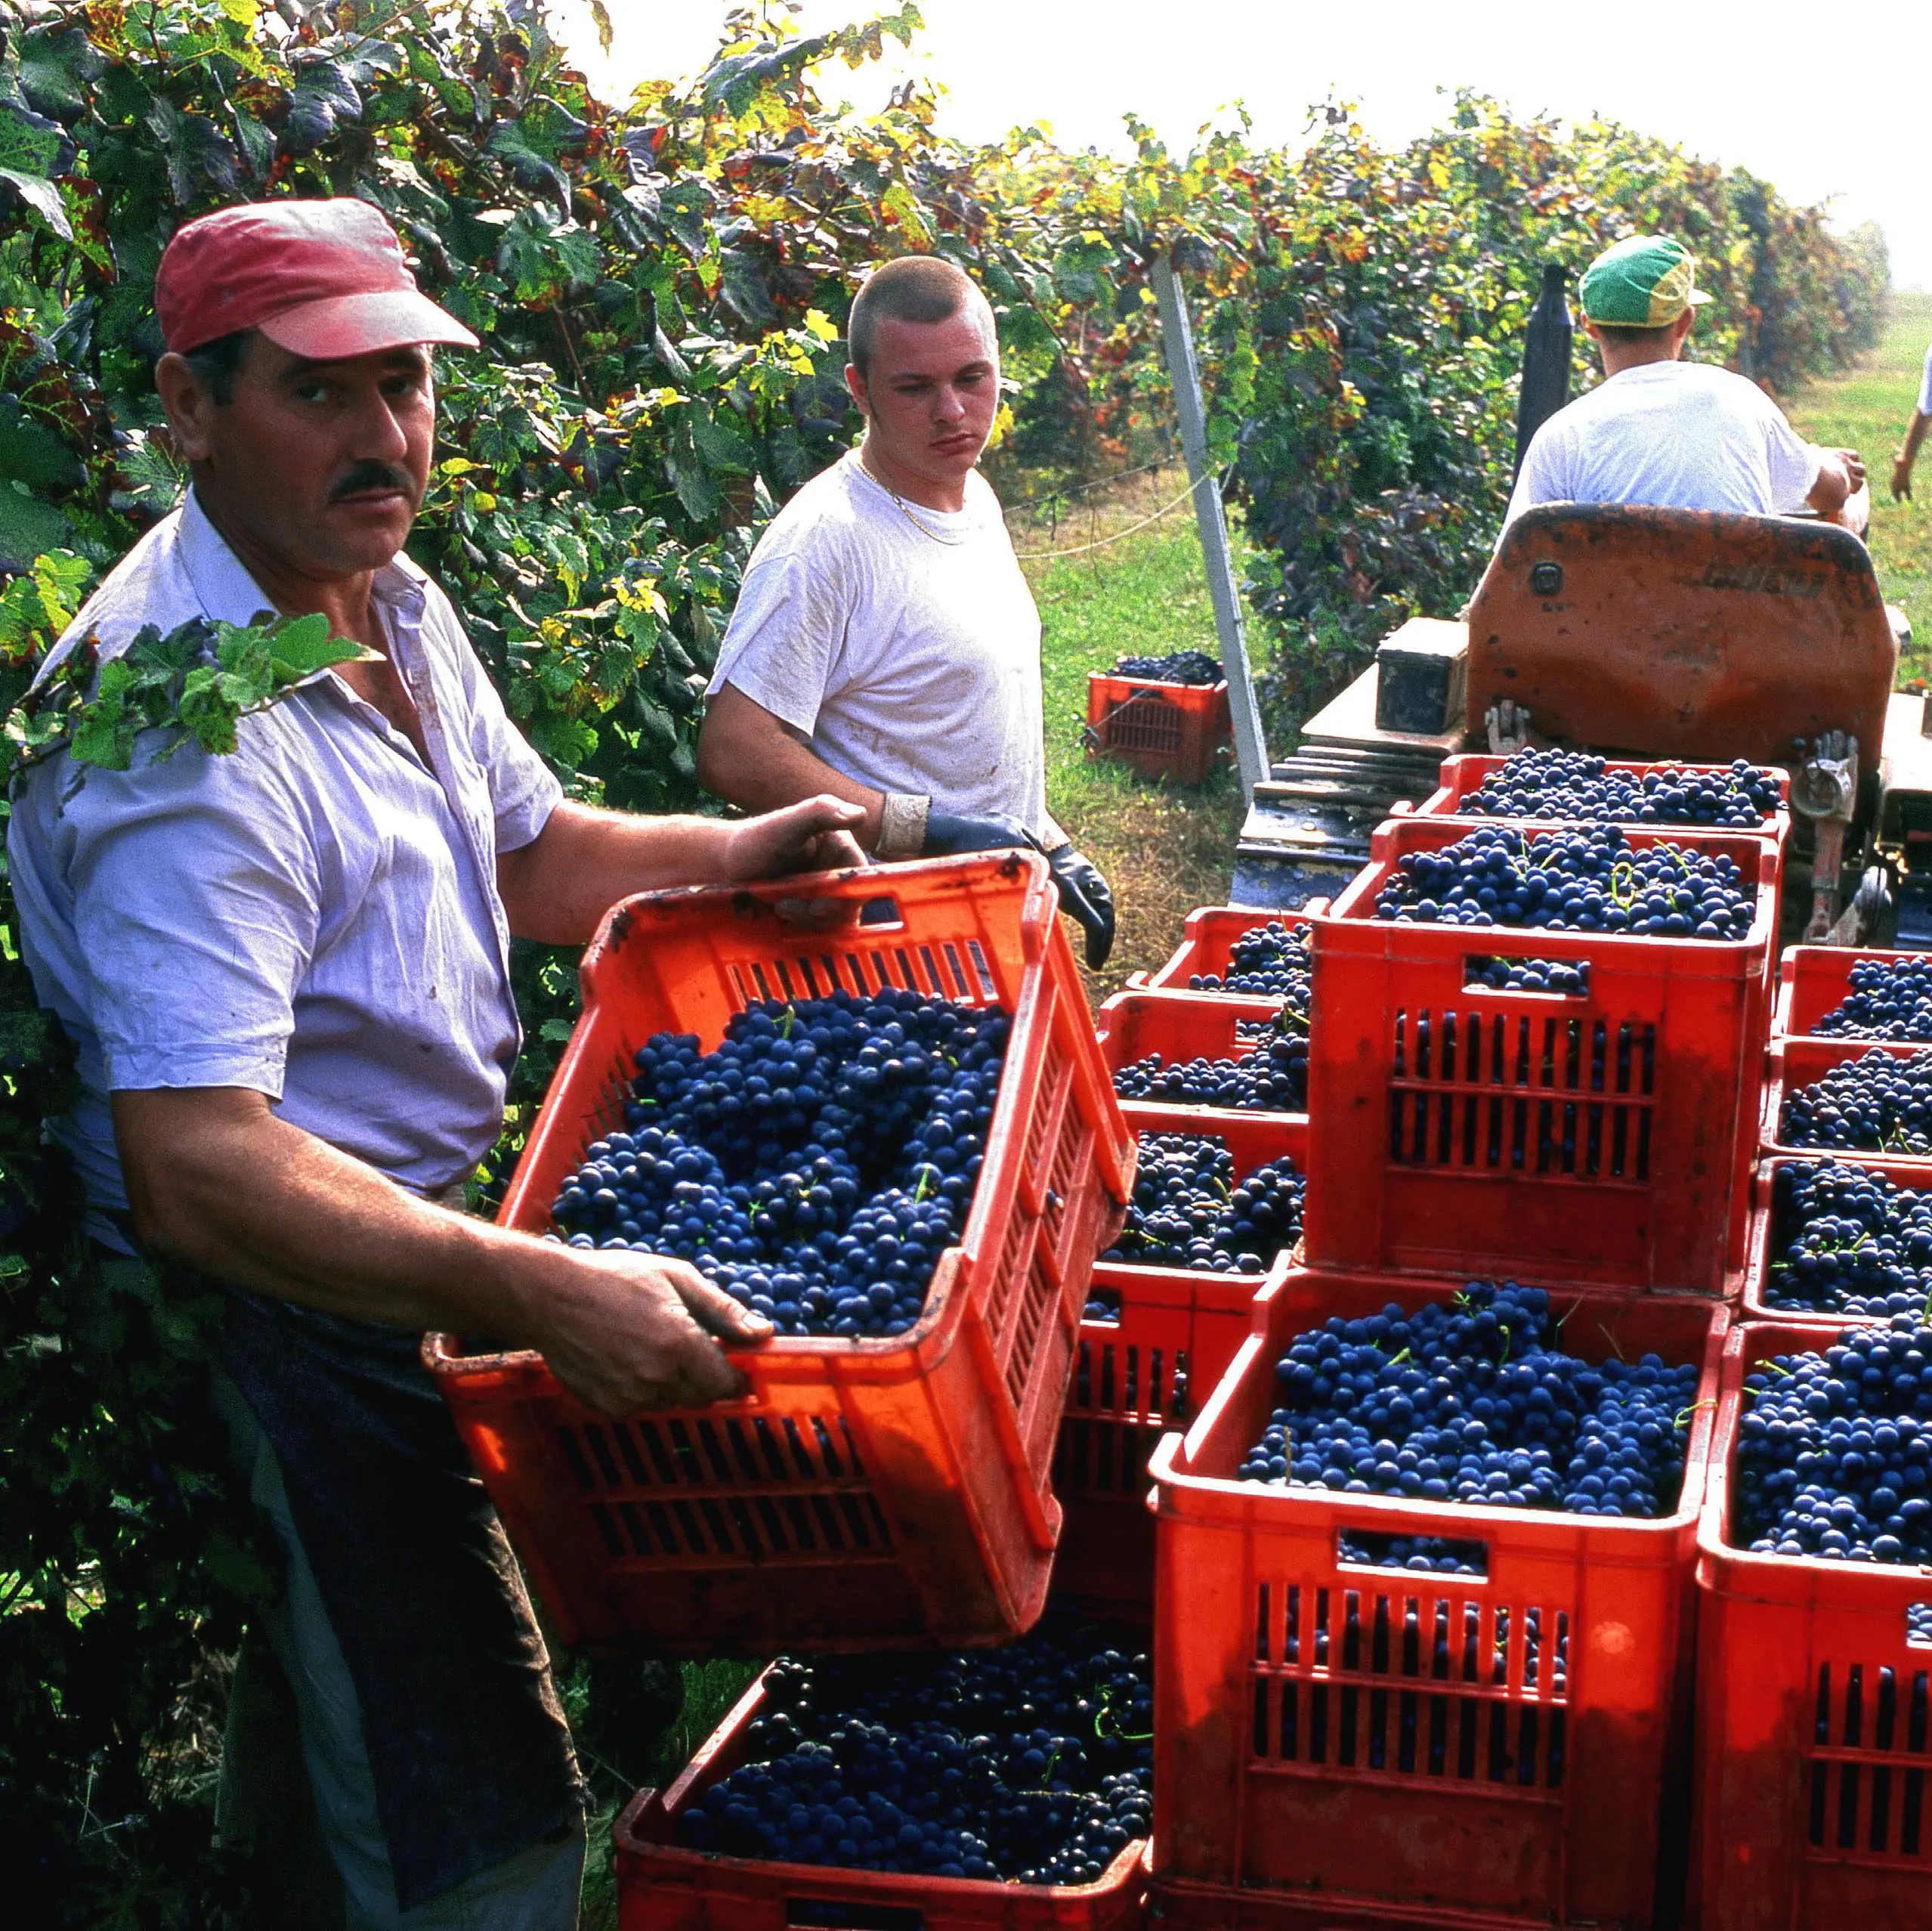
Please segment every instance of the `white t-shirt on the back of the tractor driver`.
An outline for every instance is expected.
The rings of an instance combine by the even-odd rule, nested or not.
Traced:
[[[1756,383],[1704,361],[1646,361],[1536,431],[1503,528],[1536,503],[1781,516],[1804,506],[1818,462]]]

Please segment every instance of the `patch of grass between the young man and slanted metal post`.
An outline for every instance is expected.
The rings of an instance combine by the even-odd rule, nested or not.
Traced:
[[[1161,965],[1180,943],[1196,905],[1221,905],[1240,829],[1240,787],[1231,771],[1206,785],[1171,787],[1090,758],[1080,742],[1090,671],[1126,653],[1206,649],[1219,655],[1208,574],[1186,504],[1132,530],[1186,487],[1180,468],[1157,470],[1088,499],[1059,526],[1018,522],[1022,559],[1117,537],[1103,549],[1026,562],[1039,605],[1047,721],[1047,808],[1107,874],[1119,934],[1105,970],[1088,974],[1103,999],[1130,972]]]

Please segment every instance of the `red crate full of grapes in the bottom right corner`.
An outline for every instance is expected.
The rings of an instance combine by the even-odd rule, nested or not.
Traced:
[[[1932,1328],[1747,1322],[1698,1529],[1712,1931],[1932,1923]]]

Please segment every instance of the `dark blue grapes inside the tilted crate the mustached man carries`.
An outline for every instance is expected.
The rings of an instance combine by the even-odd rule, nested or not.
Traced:
[[[960,1237],[1009,1032],[893,988],[752,1005],[711,1053],[659,1032],[553,1218],[572,1247],[690,1260],[781,1334],[904,1334]]]

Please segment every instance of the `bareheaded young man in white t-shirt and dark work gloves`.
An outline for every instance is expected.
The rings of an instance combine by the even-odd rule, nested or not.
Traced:
[[[867,278],[848,338],[866,439],[752,553],[697,779],[748,812],[848,798],[879,858],[1032,845],[1099,966],[1113,895],[1047,816],[1039,613],[976,468],[999,412],[993,311],[952,263],[906,255]]]

